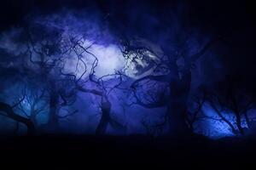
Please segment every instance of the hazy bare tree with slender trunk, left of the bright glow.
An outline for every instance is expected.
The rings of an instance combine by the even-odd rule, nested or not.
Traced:
[[[34,31],[43,29],[46,32],[38,36]],[[61,107],[73,105],[76,91],[73,89],[73,80],[68,75],[62,74],[65,59],[70,57],[70,46],[66,46],[65,37],[61,30],[48,26],[31,26],[26,28],[27,50],[29,67],[33,72],[32,78],[44,84],[46,96],[49,101],[49,128],[58,128],[59,119],[73,116],[78,111],[67,111],[66,116],[59,116]],[[79,43],[79,42],[77,42]],[[46,106],[46,105],[45,105]],[[32,111],[32,110],[31,110]],[[40,111],[36,111],[37,114]],[[37,115],[32,114],[31,116]]]

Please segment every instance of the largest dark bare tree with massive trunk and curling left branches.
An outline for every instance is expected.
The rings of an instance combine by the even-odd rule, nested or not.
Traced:
[[[134,89],[134,97],[137,100],[137,105],[142,105],[147,108],[154,107],[167,107],[167,116],[170,126],[170,133],[183,134],[189,133],[189,126],[187,122],[188,110],[187,101],[189,98],[189,89],[191,86],[191,69],[196,60],[200,59],[203,54],[207,52],[207,49],[211,48],[212,44],[216,42],[216,38],[208,41],[203,45],[201,49],[195,54],[188,53],[186,46],[186,40],[183,40],[181,47],[176,51],[170,51],[170,48],[161,47],[164,51],[162,56],[154,53],[154,49],[146,47],[132,46],[131,43],[124,43],[123,54],[125,57],[136,54],[139,59],[143,59],[147,56],[145,54],[151,53],[158,58],[159,62],[154,63],[155,69],[153,74],[141,77],[131,84],[131,88]],[[177,60],[183,59],[183,65],[178,65]],[[136,89],[140,82],[143,81],[155,81],[164,82],[170,90],[168,99],[154,101],[150,103],[143,102],[136,94]]]

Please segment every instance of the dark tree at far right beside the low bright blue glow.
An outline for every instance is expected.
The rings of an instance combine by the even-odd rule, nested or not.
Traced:
[[[241,88],[239,82],[230,77],[218,84],[220,89],[209,93],[207,97],[212,109],[224,122],[229,124],[233,133],[244,135],[252,122],[247,116],[247,111],[254,107],[253,98],[247,94],[246,89]],[[235,117],[236,126],[223,116],[222,111],[230,111],[230,114]],[[244,121],[247,123],[247,127],[242,126]]]

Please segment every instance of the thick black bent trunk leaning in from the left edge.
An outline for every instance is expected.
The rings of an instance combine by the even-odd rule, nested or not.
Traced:
[[[34,124],[32,123],[32,121],[26,117],[16,114],[10,105],[0,102],[0,111],[6,113],[6,116],[15,120],[16,122],[24,123],[27,127],[28,135],[32,135],[34,133],[35,127],[34,127]]]

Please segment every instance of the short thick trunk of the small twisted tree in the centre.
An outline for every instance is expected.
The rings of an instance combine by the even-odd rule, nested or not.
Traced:
[[[102,102],[102,117],[98,126],[96,127],[96,134],[103,135],[106,133],[108,124],[110,122],[110,111],[111,103],[108,100]]]

